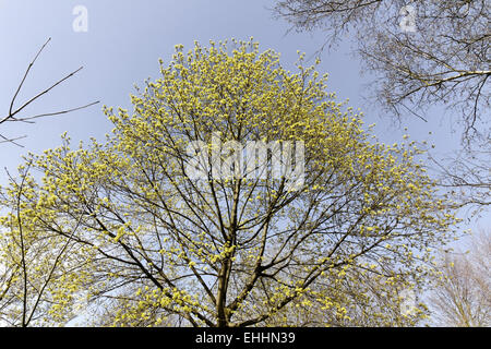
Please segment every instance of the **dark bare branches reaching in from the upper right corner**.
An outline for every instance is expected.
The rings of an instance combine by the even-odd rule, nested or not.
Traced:
[[[323,29],[324,47],[351,33],[364,68],[378,75],[371,97],[397,118],[427,120],[424,111],[438,104],[453,111],[463,148],[435,161],[442,185],[457,193],[462,206],[489,207],[488,0],[278,0],[275,13],[298,31]]]

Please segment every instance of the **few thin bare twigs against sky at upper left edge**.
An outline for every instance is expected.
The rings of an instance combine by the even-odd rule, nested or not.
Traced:
[[[71,72],[70,74],[65,75],[64,77],[58,80],[56,83],[53,83],[52,85],[50,85],[49,87],[47,87],[46,89],[39,92],[38,94],[36,94],[35,96],[33,96],[32,98],[27,99],[25,103],[21,104],[19,107],[15,107],[15,103],[17,100],[19,94],[22,89],[22,86],[24,85],[31,69],[34,67],[35,62],[37,61],[38,57],[40,56],[40,53],[43,52],[43,50],[46,48],[46,46],[49,44],[49,41],[51,40],[51,38],[49,38],[39,49],[39,51],[36,53],[36,56],[34,57],[34,59],[31,61],[29,65],[27,67],[27,70],[24,73],[24,76],[21,80],[21,83],[19,84],[14,96],[12,97],[12,100],[10,103],[10,107],[9,107],[9,111],[7,113],[7,116],[0,116],[0,143],[12,143],[19,146],[22,146],[21,144],[19,144],[16,141],[24,139],[25,136],[14,136],[14,137],[10,137],[7,136],[2,133],[2,129],[1,127],[3,124],[7,124],[8,122],[25,122],[25,123],[34,123],[36,119],[39,118],[45,118],[45,117],[52,117],[52,116],[60,116],[60,115],[64,115],[64,113],[69,113],[72,111],[76,111],[80,109],[84,109],[87,107],[91,107],[93,105],[98,104],[99,101],[94,101],[81,107],[76,107],[76,108],[71,108],[71,109],[61,109],[58,111],[52,111],[52,112],[44,112],[44,113],[37,113],[37,115],[33,115],[33,116],[22,116],[21,112],[29,105],[32,105],[35,100],[39,99],[40,97],[43,97],[44,95],[48,94],[51,89],[53,89],[55,87],[57,87],[58,85],[62,84],[63,82],[65,82],[67,80],[69,80],[70,77],[72,77],[73,75],[75,75],[76,73],[79,73],[83,67],[76,69],[75,71]]]

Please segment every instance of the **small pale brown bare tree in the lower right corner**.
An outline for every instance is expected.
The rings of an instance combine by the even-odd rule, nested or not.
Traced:
[[[490,263],[489,230],[472,238],[469,252],[445,254],[442,281],[430,297],[430,309],[439,325],[491,325]]]

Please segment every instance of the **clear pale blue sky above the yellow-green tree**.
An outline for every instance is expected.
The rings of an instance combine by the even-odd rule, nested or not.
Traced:
[[[194,40],[207,44],[209,39],[252,36],[262,49],[282,52],[283,64],[288,69],[294,68],[297,50],[307,57],[314,55],[323,44],[323,33],[288,31],[288,23],[274,19],[270,10],[273,3],[273,0],[0,0],[0,117],[8,111],[25,69],[48,37],[52,40],[32,70],[19,103],[79,67],[84,65],[84,70],[36,101],[24,116],[101,101],[34,125],[2,128],[5,135],[28,137],[21,141],[24,148],[0,144],[1,173],[3,167],[14,172],[20,156],[28,151],[40,153],[60,145],[64,131],[74,143],[92,136],[101,139],[111,128],[101,106],[130,108],[133,85],[158,77],[158,58],[168,62],[177,44],[191,48]],[[73,29],[76,5],[87,9],[87,32]],[[441,109],[430,110],[428,123],[406,119],[399,128],[390,115],[362,99],[373,77],[361,74],[349,48],[346,39],[336,51],[323,52],[319,70],[330,73],[330,88],[340,100],[349,98],[350,106],[364,111],[367,123],[376,122],[381,141],[400,141],[406,133],[403,128],[407,127],[411,139],[434,143],[438,155],[451,155],[458,147],[458,132],[452,133],[452,118]],[[429,131],[433,134],[429,135]],[[5,178],[0,174],[0,184]],[[484,227],[490,222],[490,215],[486,215],[478,224]]]

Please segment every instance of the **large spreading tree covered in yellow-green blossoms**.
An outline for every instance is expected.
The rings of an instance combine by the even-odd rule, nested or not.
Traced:
[[[22,217],[3,218],[7,236],[75,251],[68,269],[84,277],[58,299],[84,290],[95,322],[120,326],[342,325],[362,323],[362,304],[378,324],[424,314],[400,313],[399,293],[423,287],[456,219],[412,142],[372,140],[314,67],[300,57],[289,73],[252,41],[178,46],[160,65],[132,115],[105,109],[106,143],[65,137],[26,159],[22,195],[4,191]]]

